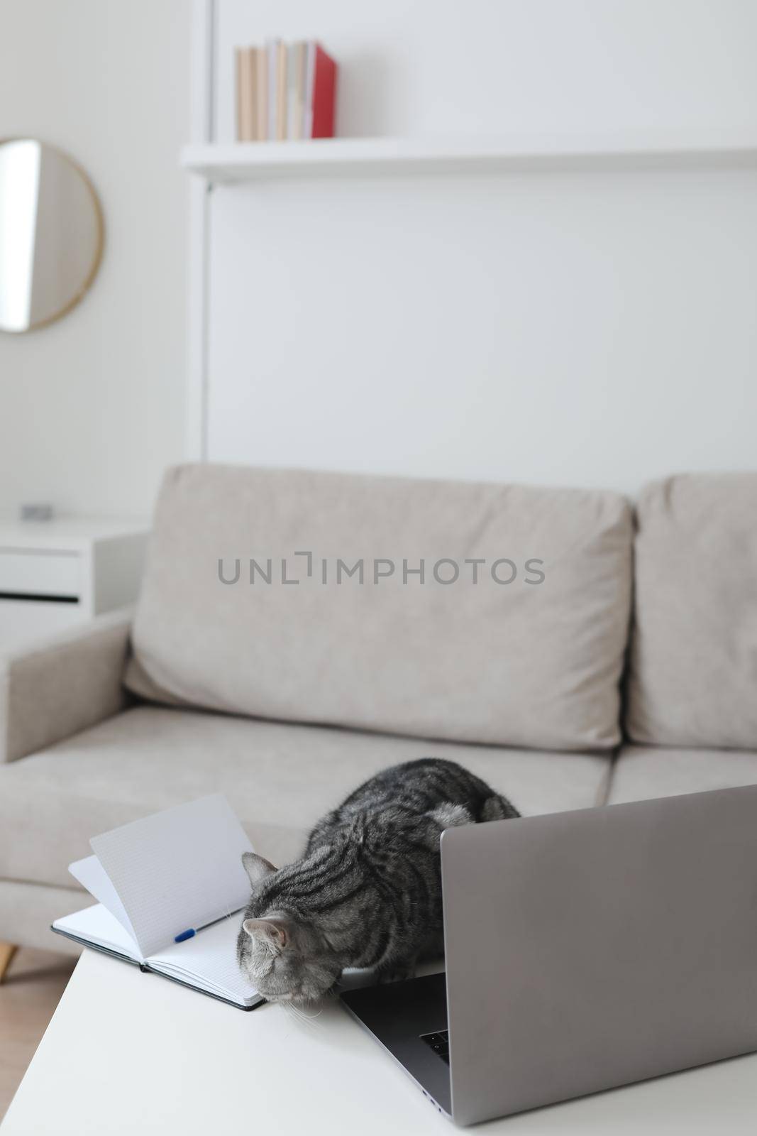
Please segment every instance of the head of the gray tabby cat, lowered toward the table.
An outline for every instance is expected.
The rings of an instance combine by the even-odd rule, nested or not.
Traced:
[[[322,997],[342,974],[342,963],[311,922],[296,919],[277,904],[275,889],[271,903],[262,916],[256,910],[255,894],[263,883],[271,883],[276,868],[254,852],[242,857],[253,889],[253,900],[237,939],[237,959],[242,972],[269,1002],[293,1002],[301,1005]]]

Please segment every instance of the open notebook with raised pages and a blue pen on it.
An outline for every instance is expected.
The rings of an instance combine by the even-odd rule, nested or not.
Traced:
[[[250,897],[242,853],[252,845],[224,796],[155,812],[90,845],[94,855],[68,870],[98,903],[56,919],[54,932],[242,1010],[263,1001],[236,961]]]

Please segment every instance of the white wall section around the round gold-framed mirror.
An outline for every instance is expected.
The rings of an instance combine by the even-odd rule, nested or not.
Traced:
[[[182,458],[190,24],[188,0],[0,7],[0,137],[70,151],[106,219],[84,301],[0,334],[0,509],[138,516]]]

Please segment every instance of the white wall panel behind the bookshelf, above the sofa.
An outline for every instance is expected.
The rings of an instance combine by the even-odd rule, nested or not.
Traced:
[[[217,0],[316,35],[343,134],[751,127],[750,0]],[[216,187],[209,456],[612,485],[757,465],[757,173]]]

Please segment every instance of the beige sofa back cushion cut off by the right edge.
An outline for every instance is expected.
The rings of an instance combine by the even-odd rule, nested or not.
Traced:
[[[637,742],[757,749],[757,473],[642,493],[628,693]]]

